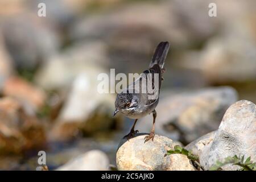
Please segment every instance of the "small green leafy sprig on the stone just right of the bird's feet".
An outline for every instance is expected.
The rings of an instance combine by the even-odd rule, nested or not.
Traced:
[[[204,168],[201,167],[199,163],[199,156],[192,154],[191,151],[188,151],[179,145],[174,146],[174,150],[168,150],[166,155],[171,155],[171,154],[183,154],[187,156],[187,158],[191,160],[193,164],[195,164],[197,169],[201,168],[202,170],[204,170]]]

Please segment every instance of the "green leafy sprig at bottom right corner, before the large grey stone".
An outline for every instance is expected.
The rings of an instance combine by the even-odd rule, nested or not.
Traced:
[[[210,167],[210,171],[222,170],[221,167],[227,164],[233,164],[242,167],[240,171],[256,171],[256,163],[251,161],[251,157],[247,158],[245,161],[245,155],[237,156],[234,155],[233,157],[228,156],[224,159],[224,162],[220,162],[217,160],[216,164]]]

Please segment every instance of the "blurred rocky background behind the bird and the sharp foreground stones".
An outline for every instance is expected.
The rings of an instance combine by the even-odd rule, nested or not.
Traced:
[[[143,72],[161,41],[171,51],[156,134],[186,145],[216,130],[234,102],[256,102],[255,10],[253,0],[0,0],[0,169],[35,170],[40,150],[49,169],[94,149],[115,165],[133,121],[112,117],[115,94],[99,94],[97,76]],[[150,115],[137,129],[151,126]]]

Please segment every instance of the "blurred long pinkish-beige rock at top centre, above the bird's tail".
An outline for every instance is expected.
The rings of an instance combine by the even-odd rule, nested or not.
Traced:
[[[171,12],[168,10],[169,6],[165,2],[158,4],[136,3],[135,5],[118,7],[118,9],[108,11],[104,15],[83,17],[75,23],[75,26],[71,27],[71,38],[74,40],[81,38],[89,40],[92,38],[104,39],[108,42],[112,39],[113,43],[117,41],[117,43],[122,43],[120,46],[127,46],[127,49],[131,48],[139,51],[137,48],[148,48],[150,45],[147,43],[154,40],[156,35],[159,38],[161,35],[157,34],[158,32],[171,36],[169,31],[173,17],[171,17]],[[165,28],[167,29],[165,30]],[[108,32],[108,34],[105,34],[105,32]],[[179,34],[179,32],[176,32],[176,34]],[[121,40],[122,42],[118,40],[119,36],[123,36],[124,40]],[[175,36],[172,36],[175,39]],[[134,42],[135,38],[137,38],[137,41]],[[136,45],[137,42],[139,43],[138,40],[145,40],[146,42],[141,42],[144,46],[138,47],[139,44]]]

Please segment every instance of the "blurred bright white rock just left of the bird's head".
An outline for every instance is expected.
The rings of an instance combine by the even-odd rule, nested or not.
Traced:
[[[61,110],[59,120],[84,121],[102,102],[108,102],[109,108],[114,110],[112,103],[114,97],[109,94],[97,92],[96,80],[98,72],[84,72],[75,78],[71,93],[68,96],[63,110]],[[110,96],[110,97],[109,97]]]

